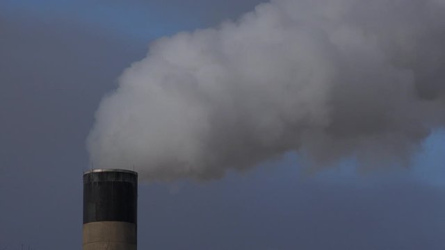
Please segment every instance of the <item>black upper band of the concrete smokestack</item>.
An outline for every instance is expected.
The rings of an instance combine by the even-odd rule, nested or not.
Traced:
[[[118,169],[97,169],[83,174],[83,224],[129,222],[136,224],[138,175]]]

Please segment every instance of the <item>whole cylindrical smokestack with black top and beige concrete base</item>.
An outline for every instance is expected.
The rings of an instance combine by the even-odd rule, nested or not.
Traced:
[[[83,173],[83,250],[137,249],[138,173]]]

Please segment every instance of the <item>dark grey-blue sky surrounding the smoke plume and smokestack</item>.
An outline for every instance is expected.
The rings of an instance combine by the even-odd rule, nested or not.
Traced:
[[[80,249],[85,138],[102,96],[163,35],[259,1],[0,2],[0,249]],[[140,186],[140,249],[444,249],[445,132],[414,167],[353,160],[305,174],[289,154],[219,181]]]

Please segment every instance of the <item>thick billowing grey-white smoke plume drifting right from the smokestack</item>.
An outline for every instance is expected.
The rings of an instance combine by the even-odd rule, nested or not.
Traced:
[[[405,163],[445,124],[445,1],[276,0],[151,45],[104,97],[95,167],[218,178],[297,151]]]

